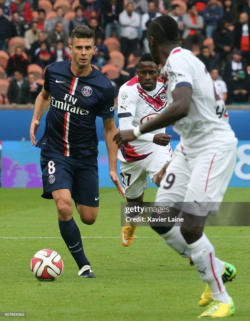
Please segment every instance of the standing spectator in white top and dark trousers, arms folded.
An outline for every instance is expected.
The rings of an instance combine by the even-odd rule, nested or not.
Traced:
[[[128,63],[129,54],[137,49],[138,27],[141,17],[134,11],[134,5],[128,3],[126,9],[119,14],[121,24],[121,52],[125,57],[125,63]]]

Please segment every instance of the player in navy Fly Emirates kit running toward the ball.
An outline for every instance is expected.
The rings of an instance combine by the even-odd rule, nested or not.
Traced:
[[[33,146],[39,121],[50,105],[45,133],[36,144],[41,148],[42,197],[55,200],[61,236],[78,265],[78,275],[85,278],[95,275],[72,217],[72,198],[81,221],[93,224],[99,206],[96,116],[103,118],[110,177],[125,197],[116,172],[118,149],[112,141],[117,133],[113,89],[110,80],[90,65],[94,41],[94,31],[87,26],[72,31],[72,61],[47,67],[30,128]]]

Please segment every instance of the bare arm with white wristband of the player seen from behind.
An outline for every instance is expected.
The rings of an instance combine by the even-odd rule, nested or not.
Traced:
[[[173,103],[169,105],[160,115],[147,123],[136,127],[134,130],[121,131],[115,135],[114,141],[118,147],[122,147],[125,143],[130,142],[141,134],[151,132],[153,130],[167,127],[177,120],[186,117],[189,113],[189,104],[192,96],[192,88],[177,87],[172,91]]]

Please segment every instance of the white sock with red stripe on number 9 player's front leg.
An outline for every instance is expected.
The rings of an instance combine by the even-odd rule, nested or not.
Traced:
[[[208,282],[212,298],[224,303],[229,303],[230,298],[221,278],[222,264],[215,257],[214,247],[203,233],[201,238],[187,247],[191,251],[193,263],[200,273],[201,280]],[[219,262],[219,261],[220,262]],[[219,263],[219,264],[218,264]]]

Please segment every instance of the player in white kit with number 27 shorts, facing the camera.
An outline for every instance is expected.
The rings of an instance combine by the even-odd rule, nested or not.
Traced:
[[[141,56],[137,76],[121,86],[118,94],[119,130],[134,129],[160,114],[167,106],[167,98],[156,65],[149,53]],[[141,135],[133,143],[127,143],[118,150],[121,164],[126,206],[142,204],[148,176],[153,182],[159,170],[172,158],[169,144],[171,136],[165,134],[165,127]],[[121,243],[129,246],[134,238],[136,224],[125,223],[121,231]]]

